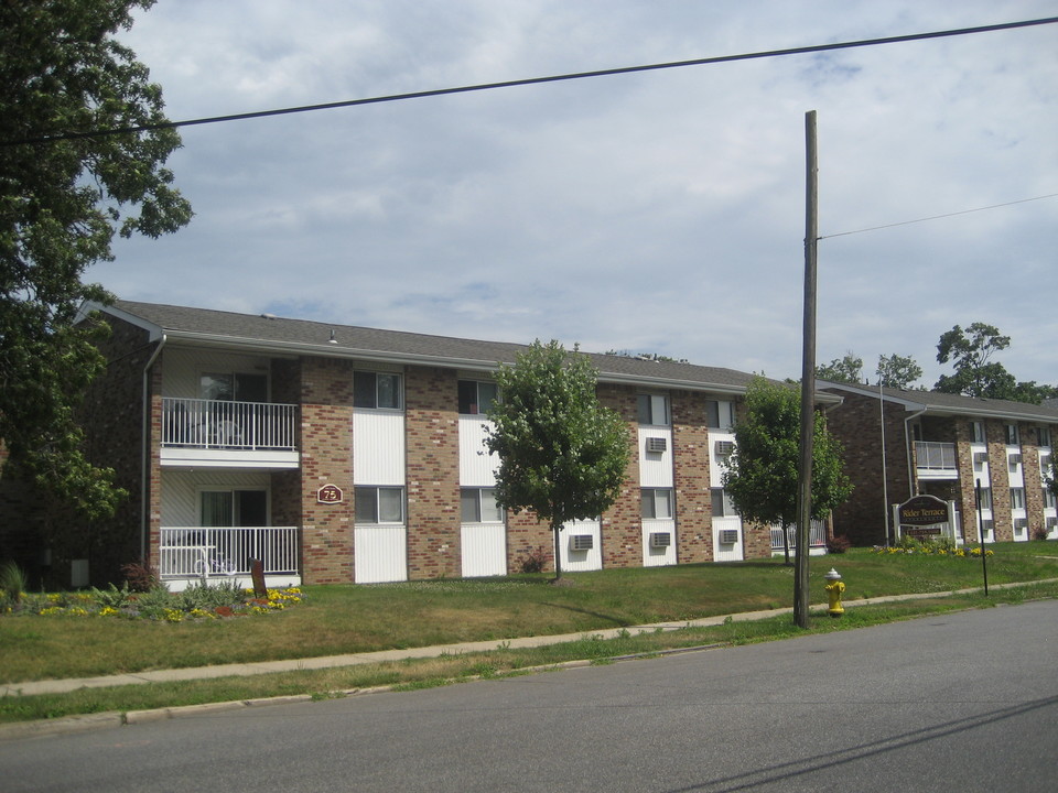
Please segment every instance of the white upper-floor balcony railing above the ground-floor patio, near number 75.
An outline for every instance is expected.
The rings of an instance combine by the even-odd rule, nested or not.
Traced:
[[[298,405],[162,398],[162,445],[295,450]]]

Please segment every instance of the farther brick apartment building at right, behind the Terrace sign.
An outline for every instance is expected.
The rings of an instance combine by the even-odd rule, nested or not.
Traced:
[[[844,445],[845,470],[856,486],[834,511],[835,534],[855,545],[883,544],[887,525],[895,536],[892,504],[930,495],[954,502],[967,542],[980,541],[982,526],[985,542],[1058,539],[1058,511],[1046,487],[1058,408],[935,391],[818,387],[842,398],[828,412],[828,426]]]

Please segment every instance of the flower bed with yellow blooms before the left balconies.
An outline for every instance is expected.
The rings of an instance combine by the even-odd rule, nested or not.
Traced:
[[[298,587],[268,589],[266,597],[255,597],[252,589],[242,589],[230,583],[198,584],[180,593],[171,593],[164,587],[136,593],[128,586],[118,589],[111,584],[108,589],[75,593],[20,593],[20,597],[6,604],[0,613],[183,622],[271,613],[296,605],[302,598]]]

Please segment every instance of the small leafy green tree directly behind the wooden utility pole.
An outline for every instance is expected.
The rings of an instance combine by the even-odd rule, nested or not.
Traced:
[[[757,377],[746,389],[745,417],[735,424],[735,450],[721,479],[746,520],[782,526],[786,563],[790,563],[787,526],[797,521],[801,405],[797,388]],[[852,492],[844,472],[841,444],[816,413],[812,442],[813,520],[825,518]]]

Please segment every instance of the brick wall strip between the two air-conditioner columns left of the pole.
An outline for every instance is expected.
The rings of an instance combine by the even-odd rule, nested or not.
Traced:
[[[672,392],[677,562],[711,562],[713,517],[709,488],[709,416],[700,393]]]

